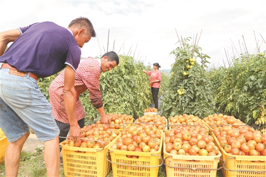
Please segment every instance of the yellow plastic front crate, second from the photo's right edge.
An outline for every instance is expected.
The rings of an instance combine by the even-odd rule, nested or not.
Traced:
[[[166,176],[215,177],[221,152],[216,156],[185,156],[165,151],[164,165]],[[192,161],[195,160],[195,161]]]

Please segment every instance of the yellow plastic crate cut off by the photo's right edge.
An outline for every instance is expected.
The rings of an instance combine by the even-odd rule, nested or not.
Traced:
[[[265,177],[266,176],[266,156],[236,156],[227,153],[214,138],[214,144],[218,146],[221,151],[221,159],[224,162],[219,162],[221,172],[225,177]],[[261,161],[261,162],[257,162]]]

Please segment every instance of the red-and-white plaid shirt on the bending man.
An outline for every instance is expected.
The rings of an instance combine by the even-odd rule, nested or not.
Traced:
[[[75,90],[77,93],[76,115],[78,121],[85,117],[83,106],[78,97],[86,90],[90,92],[90,99],[94,107],[99,108],[103,105],[99,83],[101,74],[100,65],[101,61],[96,60],[93,57],[81,60],[78,65],[75,75]],[[49,96],[55,120],[69,124],[63,101],[64,71],[62,71],[51,83],[49,87]]]

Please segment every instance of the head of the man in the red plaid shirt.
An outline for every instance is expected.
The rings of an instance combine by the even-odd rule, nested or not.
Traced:
[[[101,70],[103,72],[115,68],[118,64],[119,64],[119,57],[113,51],[107,52],[101,57]]]

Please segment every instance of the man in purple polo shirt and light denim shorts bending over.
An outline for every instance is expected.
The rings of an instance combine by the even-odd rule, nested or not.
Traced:
[[[17,175],[21,149],[30,135],[29,126],[45,142],[47,176],[59,176],[59,128],[37,79],[65,68],[63,101],[71,139],[79,140],[75,72],[80,48],[95,36],[91,21],[85,17],[72,20],[68,28],[46,21],[0,33],[0,126],[10,142],[5,156],[6,176]],[[5,52],[9,42],[13,43]]]

